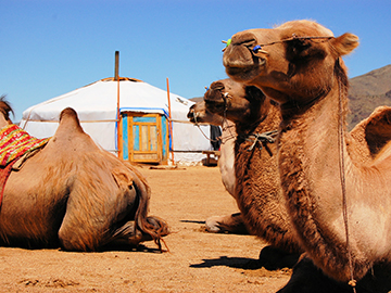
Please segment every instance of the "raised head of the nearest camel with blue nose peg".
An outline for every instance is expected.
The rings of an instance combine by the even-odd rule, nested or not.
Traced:
[[[315,22],[293,21],[240,31],[228,43],[223,63],[229,77],[260,87],[280,104],[308,104],[335,86],[336,67],[345,74],[341,56],[358,46],[358,38],[333,37]]]

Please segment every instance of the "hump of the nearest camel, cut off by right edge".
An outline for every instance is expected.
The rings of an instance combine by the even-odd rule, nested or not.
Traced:
[[[375,109],[369,117],[361,122],[352,132],[360,131],[358,129],[364,130],[370,154],[377,155],[391,141],[391,107]]]

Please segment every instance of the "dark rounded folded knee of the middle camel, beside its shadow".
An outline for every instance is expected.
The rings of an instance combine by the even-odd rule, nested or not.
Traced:
[[[300,253],[288,253],[274,246],[266,246],[260,253],[260,266],[268,270],[292,268],[299,260]]]

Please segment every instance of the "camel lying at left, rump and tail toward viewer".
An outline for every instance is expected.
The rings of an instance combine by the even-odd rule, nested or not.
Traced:
[[[13,127],[11,111],[1,99],[0,130]],[[3,246],[100,251],[154,240],[162,250],[168,234],[163,219],[147,216],[151,190],[143,176],[98,146],[73,109],[62,111],[49,142],[11,170],[3,191]]]

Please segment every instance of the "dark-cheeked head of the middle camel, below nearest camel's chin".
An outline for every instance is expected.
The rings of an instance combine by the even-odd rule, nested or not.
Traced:
[[[262,90],[230,78],[212,82],[204,101],[207,111],[236,124],[263,119],[269,105],[269,99]]]

